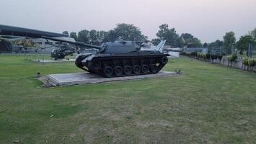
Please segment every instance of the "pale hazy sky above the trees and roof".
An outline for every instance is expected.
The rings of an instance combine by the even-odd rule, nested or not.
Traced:
[[[159,25],[202,42],[237,39],[256,27],[256,0],[0,0],[0,24],[50,32],[112,30],[116,24],[139,27],[149,40]]]

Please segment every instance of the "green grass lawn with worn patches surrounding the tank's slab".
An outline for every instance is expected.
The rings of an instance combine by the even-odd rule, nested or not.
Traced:
[[[189,58],[183,76],[43,88],[37,71],[80,71],[0,55],[0,143],[256,143],[256,76]],[[52,116],[52,117],[50,117]]]

